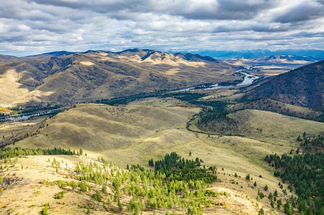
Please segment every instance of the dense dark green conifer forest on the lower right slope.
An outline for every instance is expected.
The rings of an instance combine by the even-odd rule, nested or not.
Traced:
[[[299,141],[301,137],[297,138]],[[291,191],[295,188],[298,195],[297,208],[300,214],[324,214],[324,152],[309,151],[308,144],[322,144],[323,136],[309,140],[303,135],[303,145],[306,152],[294,155],[266,155],[264,160],[276,169],[274,175],[280,177],[282,183],[289,183]],[[306,143],[306,144],[305,144]],[[322,149],[322,148],[321,148]]]

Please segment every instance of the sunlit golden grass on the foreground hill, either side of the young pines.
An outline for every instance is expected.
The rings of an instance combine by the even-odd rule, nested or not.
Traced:
[[[97,202],[91,195],[95,192],[94,188],[86,193],[80,192],[79,188],[75,191],[70,188],[65,188],[67,192],[62,199],[55,199],[54,195],[60,189],[54,181],[75,181],[77,175],[74,172],[75,164],[82,162],[89,164],[90,162],[98,163],[98,160],[88,152],[85,156],[67,156],[67,155],[37,155],[24,158],[13,158],[8,163],[8,168],[1,172],[4,178],[15,179],[6,189],[0,189],[0,213],[1,214],[37,214],[43,208],[44,204],[49,203],[50,214],[86,214],[87,208],[91,208],[91,214],[128,214],[126,205],[129,197],[121,195],[123,201],[123,210],[118,212],[114,202],[108,206],[109,210],[103,209],[102,203],[97,206]],[[193,156],[193,154],[192,154]],[[188,155],[186,155],[188,157]],[[54,158],[61,163],[61,168],[56,172],[52,167],[51,162]],[[226,192],[226,195],[221,195],[217,198],[220,205],[213,205],[205,208],[203,214],[257,214],[259,208],[264,207],[266,212],[269,212],[267,199],[264,198],[259,202],[256,200],[258,189],[265,194],[273,192],[272,183],[263,178],[254,177],[252,181],[245,180],[244,172],[237,172],[238,177],[234,177],[234,171],[231,169],[221,169],[218,167],[218,182],[211,185],[209,189],[218,193]],[[272,176],[271,176],[272,177]],[[254,187],[253,183],[257,181],[258,186]],[[235,183],[233,183],[235,182]],[[237,184],[236,184],[237,182]],[[270,182],[270,183],[269,183]],[[90,186],[95,186],[89,183]],[[269,191],[264,191],[263,187],[269,186]],[[275,186],[275,183],[273,183]],[[108,198],[111,198],[113,191],[108,186]],[[110,196],[110,197],[109,197]],[[279,192],[279,198],[285,198]],[[103,197],[103,201],[106,198]],[[182,211],[171,209],[176,214],[182,214]],[[157,214],[165,214],[165,210],[157,210]],[[275,209],[273,214],[281,214],[281,210]],[[143,214],[152,214],[152,211],[144,210]]]

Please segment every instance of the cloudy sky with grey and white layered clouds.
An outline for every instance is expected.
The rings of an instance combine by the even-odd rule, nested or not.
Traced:
[[[324,49],[324,0],[0,0],[0,55]]]

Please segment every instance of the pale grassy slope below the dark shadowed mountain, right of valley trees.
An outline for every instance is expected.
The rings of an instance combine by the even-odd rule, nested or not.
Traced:
[[[324,123],[267,111],[243,110],[229,116],[239,122],[238,134],[277,145],[295,147],[299,134],[317,136],[324,130]]]

